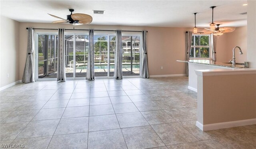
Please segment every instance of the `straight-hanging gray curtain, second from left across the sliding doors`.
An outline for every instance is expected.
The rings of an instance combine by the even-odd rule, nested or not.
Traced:
[[[57,62],[57,81],[66,81],[65,67],[65,30],[58,29],[58,62]]]

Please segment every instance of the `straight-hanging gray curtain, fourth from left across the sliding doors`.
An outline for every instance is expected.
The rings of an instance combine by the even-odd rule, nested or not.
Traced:
[[[116,31],[114,79],[123,79],[122,72],[122,30]]]

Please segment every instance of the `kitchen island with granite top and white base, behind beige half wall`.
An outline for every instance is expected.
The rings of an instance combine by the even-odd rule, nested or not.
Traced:
[[[188,89],[197,92],[197,75],[195,70],[213,69],[239,69],[249,68],[248,63],[232,65],[231,63],[215,62],[213,60],[177,60],[178,62],[188,63]]]

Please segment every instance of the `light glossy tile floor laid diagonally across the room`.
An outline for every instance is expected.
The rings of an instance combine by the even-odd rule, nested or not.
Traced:
[[[253,149],[256,125],[201,131],[188,77],[20,83],[0,94],[0,143],[28,149]]]

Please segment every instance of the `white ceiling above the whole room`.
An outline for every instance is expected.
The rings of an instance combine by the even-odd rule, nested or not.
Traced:
[[[246,26],[246,0],[1,0],[1,15],[18,22],[50,23],[58,19],[53,14],[66,18],[73,13],[92,16],[91,24],[194,27],[194,12],[197,27],[209,27],[212,22],[223,26]],[[92,10],[105,10],[105,14],[93,14]]]

